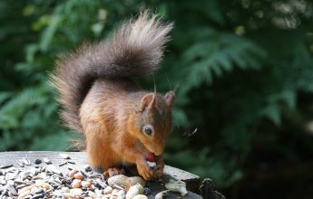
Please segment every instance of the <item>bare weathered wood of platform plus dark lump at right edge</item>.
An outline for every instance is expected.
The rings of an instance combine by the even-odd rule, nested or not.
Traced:
[[[60,154],[66,154],[70,156],[69,160],[64,159]],[[54,152],[54,151],[16,151],[16,152],[0,152],[0,166],[15,166],[16,168],[22,168],[17,160],[27,159],[30,162],[30,166],[46,166],[44,158],[51,160],[54,165],[63,175],[69,173],[69,168],[72,167],[76,170],[84,170],[87,166],[87,156],[85,152]],[[34,164],[35,160],[42,160],[42,163]],[[23,169],[27,169],[27,165],[24,165]],[[102,174],[103,170],[99,168],[93,168],[93,172],[96,174]],[[205,199],[220,199],[225,198],[222,194],[215,190],[215,187],[210,179],[205,179],[201,184],[201,179],[198,175],[193,175],[189,172],[183,171],[179,168],[172,166],[164,167],[164,175],[161,181],[149,182],[148,187],[150,193],[147,194],[148,198],[154,198],[156,194],[166,190],[164,184],[169,179],[180,180],[186,183],[188,194],[181,197],[181,194],[169,192],[164,198],[205,198]],[[1,185],[0,185],[1,186]],[[3,192],[3,191],[2,191]],[[0,192],[0,198],[3,198],[4,193]]]

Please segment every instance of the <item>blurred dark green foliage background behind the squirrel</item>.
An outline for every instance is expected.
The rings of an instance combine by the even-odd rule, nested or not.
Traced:
[[[167,164],[212,178],[230,198],[309,198],[308,0],[0,1],[0,150],[68,150],[47,84],[57,54],[110,36],[144,7],[175,22],[161,71],[141,80],[178,86]]]

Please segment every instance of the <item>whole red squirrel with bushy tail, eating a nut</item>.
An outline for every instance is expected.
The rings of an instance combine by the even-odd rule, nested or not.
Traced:
[[[83,43],[57,60],[52,83],[61,117],[68,128],[83,133],[91,166],[133,166],[145,180],[161,177],[175,94],[142,90],[132,78],[158,69],[171,28],[143,12],[111,39]]]

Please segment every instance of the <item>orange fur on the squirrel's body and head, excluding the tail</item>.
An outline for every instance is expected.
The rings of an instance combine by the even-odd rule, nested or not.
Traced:
[[[147,95],[151,93],[140,90],[130,80],[95,81],[80,109],[92,166],[109,168],[136,164],[139,174],[143,172],[146,179],[160,177],[160,172],[152,171],[142,162],[149,152],[161,156],[171,134],[171,104],[167,104],[164,96],[156,94],[154,106],[143,104],[145,110],[142,111],[141,99]],[[141,122],[152,125],[155,130],[152,137],[142,133]]]

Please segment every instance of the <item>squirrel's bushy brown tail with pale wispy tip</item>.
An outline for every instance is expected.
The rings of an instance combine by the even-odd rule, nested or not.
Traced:
[[[84,43],[56,62],[52,85],[59,93],[61,117],[68,128],[83,132],[79,109],[93,81],[99,78],[132,78],[155,71],[172,24],[163,24],[154,14],[143,12],[100,43]]]

